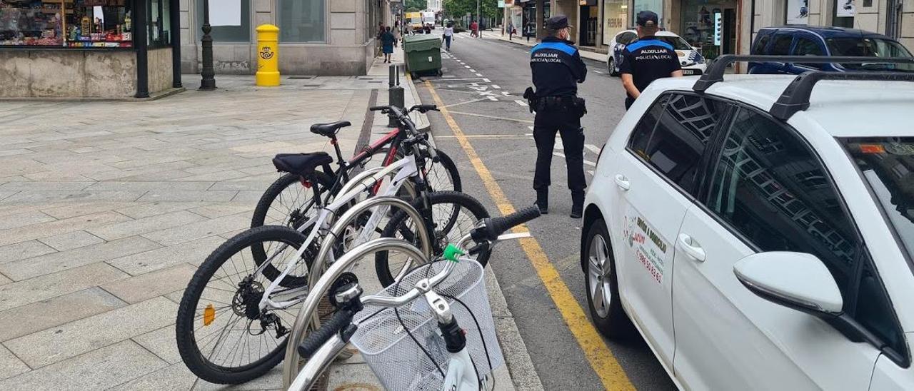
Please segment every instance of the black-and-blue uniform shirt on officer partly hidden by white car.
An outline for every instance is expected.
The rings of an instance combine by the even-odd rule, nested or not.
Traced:
[[[655,37],[643,37],[626,46],[619,64],[619,73],[631,74],[639,91],[656,79],[669,78],[679,69],[682,67],[673,46]]]

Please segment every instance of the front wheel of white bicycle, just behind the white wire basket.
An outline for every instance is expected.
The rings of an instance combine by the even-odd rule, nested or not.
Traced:
[[[472,196],[458,192],[433,192],[429,193],[430,209],[422,207],[422,201],[417,199],[413,206],[420,214],[431,214],[434,224],[435,237],[432,240],[437,248],[444,248],[448,243],[456,243],[464,235],[476,227],[476,222],[481,218],[489,217],[485,206]],[[388,221],[381,233],[382,238],[402,238],[410,243],[420,246],[415,234],[416,225],[406,213],[399,211]],[[488,262],[489,253],[480,253],[476,260],[483,266]],[[388,251],[375,253],[375,271],[377,280],[387,287],[394,282],[401,269],[407,264],[406,257],[390,257]],[[419,266],[419,265],[416,265]]]

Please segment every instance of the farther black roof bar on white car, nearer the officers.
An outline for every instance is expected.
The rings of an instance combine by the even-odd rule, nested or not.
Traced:
[[[831,63],[876,63],[876,64],[914,64],[914,58],[878,58],[878,57],[839,57],[839,56],[738,56],[725,54],[720,56],[711,63],[707,70],[692,90],[696,92],[705,92],[715,83],[724,81],[724,71],[727,66],[737,61],[756,61],[756,62],[799,62],[804,64],[831,64]],[[814,84],[814,82],[813,82]]]

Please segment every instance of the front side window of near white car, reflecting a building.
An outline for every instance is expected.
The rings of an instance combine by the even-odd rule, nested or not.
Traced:
[[[762,251],[822,259],[850,301],[860,248],[819,160],[793,132],[740,109],[710,180],[707,207]]]

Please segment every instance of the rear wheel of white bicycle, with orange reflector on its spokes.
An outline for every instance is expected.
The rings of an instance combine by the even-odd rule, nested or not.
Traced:
[[[242,232],[219,246],[200,265],[178,306],[175,336],[178,353],[194,375],[210,383],[239,384],[263,375],[282,361],[288,327],[296,307],[260,312],[270,280],[252,276],[257,265],[250,251],[258,244],[278,261],[288,261],[304,236],[289,227],[265,226]],[[299,267],[310,267],[304,259]],[[277,265],[284,269],[285,265]],[[303,292],[280,289],[277,301]],[[282,298],[282,295],[288,295]],[[279,297],[278,297],[279,296]]]

